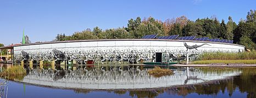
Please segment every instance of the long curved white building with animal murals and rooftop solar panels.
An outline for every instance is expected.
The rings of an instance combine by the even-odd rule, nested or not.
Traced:
[[[11,49],[13,62],[24,60],[76,60],[94,64],[141,64],[171,62],[197,57],[203,52],[242,52],[244,46],[229,40],[146,35],[142,39],[55,41],[1,47]]]

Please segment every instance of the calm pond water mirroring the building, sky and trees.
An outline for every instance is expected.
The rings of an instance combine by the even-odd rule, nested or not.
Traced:
[[[256,68],[179,68],[162,77],[146,68],[26,70],[1,78],[1,97],[256,97]]]

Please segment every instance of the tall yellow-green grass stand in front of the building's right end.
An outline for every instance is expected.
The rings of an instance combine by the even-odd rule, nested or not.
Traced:
[[[198,60],[245,60],[256,59],[256,51],[252,52],[238,52],[238,53],[203,53],[198,56]]]

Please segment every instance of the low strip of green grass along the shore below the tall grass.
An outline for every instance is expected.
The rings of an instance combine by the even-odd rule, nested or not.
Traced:
[[[213,64],[213,63],[243,63],[243,64],[256,64],[256,59],[246,60],[196,60],[192,64]]]

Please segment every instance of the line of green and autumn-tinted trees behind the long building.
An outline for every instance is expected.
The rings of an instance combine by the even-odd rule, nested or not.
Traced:
[[[137,17],[130,19],[127,27],[102,30],[94,27],[75,32],[72,35],[58,34],[55,41],[88,40],[88,39],[140,39],[144,35],[158,34],[167,36],[179,34],[180,36],[197,36],[234,40],[235,44],[246,46],[251,50],[256,49],[256,10],[250,10],[246,20],[241,19],[238,24],[232,17],[228,21],[219,21],[216,17],[206,17],[196,21],[187,19],[186,16],[167,19],[164,22],[153,17]]]

